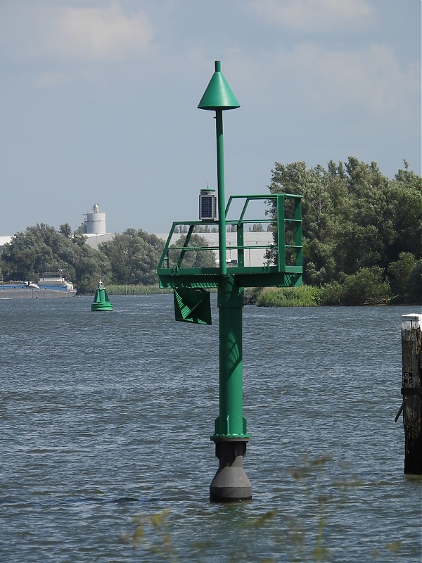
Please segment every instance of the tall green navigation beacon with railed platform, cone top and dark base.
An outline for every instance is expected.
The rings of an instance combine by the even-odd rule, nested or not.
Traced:
[[[198,105],[199,109],[215,111],[217,134],[217,217],[214,200],[205,201],[199,221],[174,222],[158,264],[161,288],[174,290],[176,320],[211,324],[210,293],[217,288],[219,308],[219,415],[211,440],[215,442],[215,455],[219,459],[217,473],[210,485],[212,502],[235,502],[252,498],[252,486],[243,469],[246,444],[250,440],[246,419],[243,417],[242,391],[242,310],[245,287],[292,287],[302,284],[302,196],[293,194],[262,194],[224,196],[224,110],[240,105],[222,75],[220,61],[215,61],[215,72]],[[201,191],[200,198],[213,198],[212,190]],[[248,207],[256,201],[272,205],[271,217],[247,219]],[[229,214],[240,203],[240,216],[229,220]],[[250,205],[252,204],[252,205]],[[202,215],[201,215],[202,213]],[[205,218],[204,218],[205,217]],[[257,246],[245,244],[244,229],[250,223],[271,224],[274,243]],[[217,267],[184,266],[190,251],[210,251],[209,247],[191,244],[196,226],[218,224]],[[226,229],[236,227],[237,261],[227,263]],[[170,246],[172,236],[183,227],[186,239],[183,246]],[[262,265],[246,265],[253,249],[265,249],[274,257]]]

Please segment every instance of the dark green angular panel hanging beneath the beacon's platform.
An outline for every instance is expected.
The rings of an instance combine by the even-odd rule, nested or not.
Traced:
[[[210,293],[204,289],[174,289],[174,314],[177,321],[211,323]]]

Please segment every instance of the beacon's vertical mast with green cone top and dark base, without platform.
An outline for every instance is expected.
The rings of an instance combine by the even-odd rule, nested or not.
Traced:
[[[226,264],[226,201],[224,196],[223,110],[238,108],[229,84],[215,61],[215,73],[198,108],[215,110],[217,136],[217,189],[219,221],[219,416],[215,421],[215,455],[219,468],[210,485],[210,500],[236,502],[252,498],[252,486],[243,469],[250,434],[242,415],[242,308],[243,288],[237,287]]]

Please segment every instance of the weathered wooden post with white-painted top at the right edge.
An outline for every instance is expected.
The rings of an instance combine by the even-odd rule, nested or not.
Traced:
[[[404,473],[422,474],[422,315],[402,315]]]

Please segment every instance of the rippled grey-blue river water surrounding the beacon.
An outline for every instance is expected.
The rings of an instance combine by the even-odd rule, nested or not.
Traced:
[[[0,561],[421,562],[401,315],[243,309],[253,499],[210,504],[218,315],[171,295],[0,301]]]

